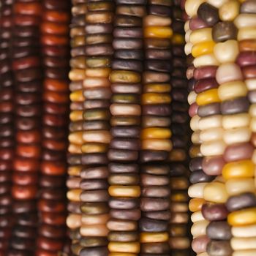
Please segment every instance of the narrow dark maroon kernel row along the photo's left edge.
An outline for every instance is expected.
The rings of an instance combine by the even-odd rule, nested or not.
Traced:
[[[14,135],[14,80],[12,78],[12,62],[10,55],[10,42],[12,35],[12,4],[1,1],[1,35],[0,35],[0,208],[2,223],[0,228],[0,255],[7,255],[12,235],[12,156],[15,148]]]

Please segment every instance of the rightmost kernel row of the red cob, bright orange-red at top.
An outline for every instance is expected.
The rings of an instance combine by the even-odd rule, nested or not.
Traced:
[[[42,120],[50,118],[42,127],[42,172],[49,178],[49,184],[39,187],[39,232],[37,237],[37,255],[44,253],[57,254],[63,250],[66,242],[65,223],[59,225],[56,217],[66,217],[66,200],[64,177],[66,176],[67,123],[69,110],[69,87],[67,70],[69,67],[69,1],[61,5],[42,1],[45,12],[41,23],[42,63],[44,64],[44,90],[42,94]],[[52,15],[62,15],[53,19]],[[58,49],[62,50],[59,53]],[[55,54],[50,53],[51,48]],[[61,54],[61,56],[60,56]],[[61,130],[61,132],[60,132]],[[46,170],[46,171],[44,171]],[[58,180],[59,182],[56,182]],[[59,192],[56,192],[56,189]],[[51,223],[40,218],[41,214],[49,213]],[[51,231],[58,227],[56,232]],[[49,234],[49,233],[50,234]],[[41,245],[43,241],[43,244]]]

